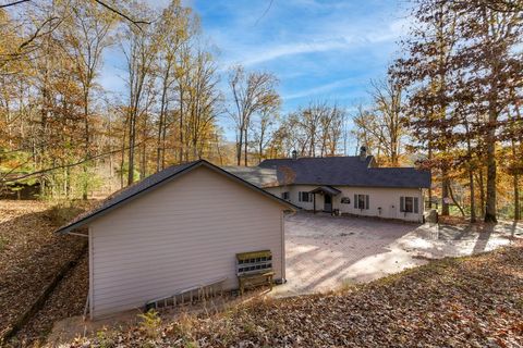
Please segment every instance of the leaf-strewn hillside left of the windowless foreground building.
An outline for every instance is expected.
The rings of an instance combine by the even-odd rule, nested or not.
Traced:
[[[82,210],[46,201],[0,200],[0,345],[4,335],[14,334],[12,346],[28,346],[45,336],[53,321],[82,313],[87,296],[87,260],[82,257],[86,240],[53,233]],[[69,271],[78,258],[80,266]],[[68,281],[45,304],[35,307],[38,298],[47,299],[44,293],[61,271]]]

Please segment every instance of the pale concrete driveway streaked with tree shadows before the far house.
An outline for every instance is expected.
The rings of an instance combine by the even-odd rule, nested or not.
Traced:
[[[492,250],[522,224],[438,226],[300,212],[285,217],[288,283],[275,296],[328,291],[427,263]]]

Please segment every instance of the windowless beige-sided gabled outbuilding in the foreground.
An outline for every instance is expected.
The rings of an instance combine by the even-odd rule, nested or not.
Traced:
[[[89,313],[98,319],[217,278],[234,289],[236,253],[270,250],[275,279],[283,279],[283,214],[293,210],[200,160],[156,173],[57,232],[88,238]]]

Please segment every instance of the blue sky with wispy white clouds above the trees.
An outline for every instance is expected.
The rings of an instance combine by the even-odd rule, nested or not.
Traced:
[[[168,0],[154,1],[157,7]],[[243,64],[280,80],[282,112],[329,100],[351,110],[368,102],[369,80],[385,77],[408,29],[402,0],[185,0],[202,20],[223,72]],[[110,50],[102,85],[118,91],[123,57]],[[228,122],[222,117],[228,130]],[[229,137],[229,132],[227,132]]]

